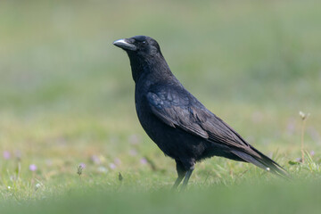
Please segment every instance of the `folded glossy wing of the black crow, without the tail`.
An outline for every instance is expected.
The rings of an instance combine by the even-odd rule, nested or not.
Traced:
[[[233,128],[207,110],[193,95],[175,90],[149,92],[152,113],[173,128],[181,128],[195,136],[233,147],[249,146]]]

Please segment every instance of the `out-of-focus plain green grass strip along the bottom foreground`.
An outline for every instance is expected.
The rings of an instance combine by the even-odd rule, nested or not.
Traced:
[[[185,193],[74,189],[60,198],[7,205],[2,213],[319,213],[320,182],[192,188]],[[66,211],[67,210],[67,211]]]

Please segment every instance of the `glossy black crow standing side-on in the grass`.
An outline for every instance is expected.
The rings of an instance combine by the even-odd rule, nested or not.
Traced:
[[[250,162],[286,177],[287,172],[248,144],[233,128],[202,105],[177,80],[152,37],[116,40],[113,45],[128,53],[136,83],[138,119],[161,151],[177,163],[176,188],[188,183],[197,161],[221,156]]]

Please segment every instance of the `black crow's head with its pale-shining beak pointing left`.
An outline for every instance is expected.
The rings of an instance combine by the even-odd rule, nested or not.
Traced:
[[[131,56],[154,56],[161,53],[160,45],[152,38],[146,36],[135,36],[121,38],[112,43],[126,51]]]

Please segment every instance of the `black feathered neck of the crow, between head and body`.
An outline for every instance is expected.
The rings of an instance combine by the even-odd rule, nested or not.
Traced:
[[[137,83],[139,78],[150,76],[155,82],[166,80],[172,77],[173,74],[169,69],[168,63],[164,57],[159,54],[151,57],[129,57],[132,76]]]

